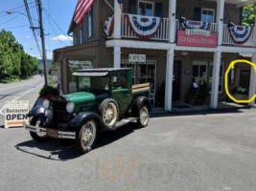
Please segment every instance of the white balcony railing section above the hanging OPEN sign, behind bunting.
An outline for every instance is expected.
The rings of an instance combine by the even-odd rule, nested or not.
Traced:
[[[130,25],[128,24],[128,17],[125,16],[126,14],[122,14],[122,26],[121,26],[121,36],[123,38],[139,38],[135,32],[131,29]],[[129,14],[136,17],[141,17],[140,15],[136,14]],[[151,18],[151,16],[143,16]],[[168,41],[169,40],[169,29],[170,29],[170,22],[169,18],[162,18],[162,22],[157,30],[157,32],[151,37],[151,40],[161,40],[161,41]]]

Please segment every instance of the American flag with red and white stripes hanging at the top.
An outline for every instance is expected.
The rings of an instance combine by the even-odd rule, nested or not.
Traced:
[[[84,15],[91,10],[95,0],[79,0],[77,9],[75,11],[74,21],[76,24],[80,24]]]

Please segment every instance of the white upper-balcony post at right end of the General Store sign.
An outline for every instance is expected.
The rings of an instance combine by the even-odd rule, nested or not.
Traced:
[[[217,23],[218,23],[218,45],[221,46],[223,38],[223,18],[224,18],[225,0],[219,0],[217,3]]]

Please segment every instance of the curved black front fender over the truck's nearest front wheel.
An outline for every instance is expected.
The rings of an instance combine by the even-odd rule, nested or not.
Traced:
[[[106,130],[105,124],[98,114],[93,112],[82,112],[78,116],[74,117],[69,123],[68,130],[78,129],[81,127],[81,124],[87,120],[94,119],[98,124],[99,130]]]

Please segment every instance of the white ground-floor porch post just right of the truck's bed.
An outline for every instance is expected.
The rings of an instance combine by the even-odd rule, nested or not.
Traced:
[[[174,58],[175,50],[167,51],[166,63],[166,82],[165,82],[165,111],[172,112],[173,110],[173,80],[174,80]]]

